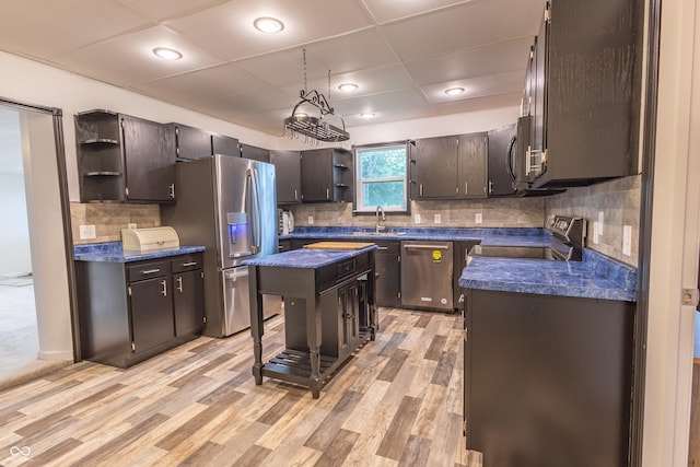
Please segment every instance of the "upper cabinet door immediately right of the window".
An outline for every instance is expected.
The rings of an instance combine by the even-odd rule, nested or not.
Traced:
[[[457,138],[424,138],[416,141],[418,199],[457,196]]]

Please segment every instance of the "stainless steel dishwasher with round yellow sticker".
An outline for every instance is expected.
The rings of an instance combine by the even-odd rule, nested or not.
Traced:
[[[453,310],[452,242],[401,242],[401,305]]]

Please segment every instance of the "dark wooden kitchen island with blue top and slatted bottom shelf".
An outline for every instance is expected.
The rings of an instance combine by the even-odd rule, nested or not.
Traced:
[[[374,340],[374,250],[301,248],[244,261],[249,268],[256,385],[262,376],[308,387],[314,398],[339,366]],[[262,294],[284,297],[285,350],[262,363]]]

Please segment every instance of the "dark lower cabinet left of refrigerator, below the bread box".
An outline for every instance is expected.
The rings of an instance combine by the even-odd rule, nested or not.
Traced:
[[[128,367],[198,336],[202,255],[77,261],[82,358]]]

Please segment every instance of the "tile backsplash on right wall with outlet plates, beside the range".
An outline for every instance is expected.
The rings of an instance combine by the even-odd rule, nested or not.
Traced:
[[[555,214],[579,215],[587,221],[586,247],[628,265],[639,261],[639,220],[641,175],[617,178],[587,187],[569,188],[561,195],[546,198],[546,219]],[[594,243],[594,222],[603,213],[603,233]],[[630,225],[630,255],[622,253],[622,232]]]

